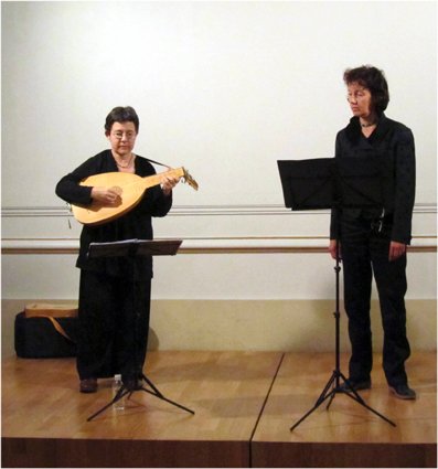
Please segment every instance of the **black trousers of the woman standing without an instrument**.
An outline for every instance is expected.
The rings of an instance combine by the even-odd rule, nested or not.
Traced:
[[[352,354],[350,379],[370,379],[373,367],[370,305],[372,279],[377,286],[383,340],[383,370],[392,386],[407,384],[405,361],[410,355],[406,337],[406,254],[388,260],[391,224],[381,231],[370,220],[341,221],[344,303]]]

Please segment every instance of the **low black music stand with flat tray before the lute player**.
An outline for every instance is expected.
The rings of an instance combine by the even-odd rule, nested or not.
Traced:
[[[132,283],[135,283],[135,275],[136,275],[136,266],[135,266],[135,258],[137,256],[174,256],[181,246],[182,239],[163,239],[163,241],[147,241],[147,239],[127,239],[127,241],[119,241],[114,243],[90,243],[88,248],[88,257],[128,257],[131,259],[132,263]],[[136,298],[135,298],[135,287],[132,289],[132,315],[136,313],[136,340],[135,340],[135,351],[133,351],[133,362],[135,362],[135,370],[140,370],[141,365],[138,363],[138,351],[137,351],[137,328],[138,328],[138,309],[136,307]],[[137,379],[136,379],[137,380]],[[141,371],[141,381],[145,381],[150,390],[147,387],[143,387],[140,383],[136,381],[136,386],[133,388],[128,388],[125,386],[125,383],[122,383],[121,387],[118,390],[114,398],[106,404],[104,407],[102,407],[99,411],[97,411],[95,414],[89,416],[87,418],[87,422],[95,418],[97,415],[102,414],[104,411],[106,411],[108,407],[110,407],[116,402],[120,401],[122,397],[125,397],[127,394],[128,398],[131,396],[131,394],[136,391],[143,391],[146,393],[152,394],[153,396],[165,401],[179,408],[182,408],[183,411],[189,412],[190,414],[194,414],[193,411],[191,411],[188,407],[182,406],[181,404],[178,404],[165,396],[154,386],[154,384],[145,375],[145,373]]]

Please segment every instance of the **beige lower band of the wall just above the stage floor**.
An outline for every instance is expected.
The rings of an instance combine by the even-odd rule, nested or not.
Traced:
[[[2,354],[14,354],[13,322],[26,302],[2,300]],[[38,301],[53,301],[41,299]],[[54,300],[56,302],[56,300]],[[70,302],[72,300],[68,300]],[[436,350],[437,301],[407,300],[413,350]],[[325,352],[334,350],[333,300],[152,300],[151,350]],[[349,350],[341,305],[341,351]],[[378,301],[372,301],[374,351],[382,351]]]

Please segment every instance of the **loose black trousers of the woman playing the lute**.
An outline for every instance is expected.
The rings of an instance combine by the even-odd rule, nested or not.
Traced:
[[[81,270],[77,372],[79,379],[141,376],[150,317],[151,279]]]

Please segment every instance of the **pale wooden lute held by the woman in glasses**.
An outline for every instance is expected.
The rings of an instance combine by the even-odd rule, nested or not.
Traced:
[[[184,168],[171,169],[165,171],[165,173],[174,178],[181,178],[183,182],[186,182],[197,191],[197,182]],[[84,225],[94,226],[111,222],[132,210],[141,201],[147,189],[160,184],[162,174],[141,178],[128,172],[104,172],[85,178],[79,182],[81,185],[118,188],[120,196],[117,205],[105,205],[98,201],[93,201],[89,205],[72,204],[73,215]]]

